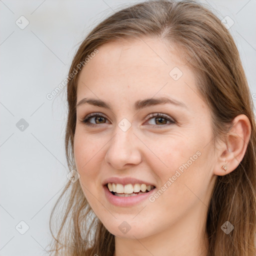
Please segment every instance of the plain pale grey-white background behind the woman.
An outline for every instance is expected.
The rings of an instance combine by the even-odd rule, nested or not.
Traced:
[[[49,214],[67,181],[64,155],[65,88],[46,98],[68,72],[88,31],[131,0],[0,0],[0,255],[48,255]],[[256,93],[256,0],[201,0],[228,15]],[[23,15],[29,24],[20,29]],[[19,21],[21,22],[21,21]],[[22,22],[24,24],[24,20]],[[253,98],[256,99],[256,94]],[[255,103],[256,100],[254,100]],[[20,131],[16,123],[25,119]],[[15,226],[29,229],[20,234]],[[24,230],[25,224],[18,225]]]

